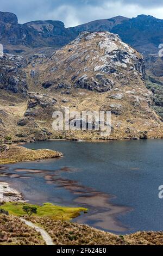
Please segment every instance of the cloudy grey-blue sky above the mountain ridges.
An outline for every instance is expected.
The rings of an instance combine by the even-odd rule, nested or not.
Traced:
[[[0,10],[16,14],[19,23],[60,20],[66,27],[118,15],[146,14],[163,19],[162,0],[1,0]]]

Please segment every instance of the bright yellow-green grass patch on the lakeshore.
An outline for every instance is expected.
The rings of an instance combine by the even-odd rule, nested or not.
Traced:
[[[37,217],[49,217],[54,220],[70,221],[72,218],[76,218],[80,215],[80,212],[87,211],[86,208],[71,208],[65,206],[58,206],[51,203],[45,203],[43,205],[32,205],[27,203],[4,203],[0,206],[0,209],[8,211],[10,215],[24,216],[26,213],[23,210],[23,206],[29,206],[37,209],[37,213],[34,216]]]

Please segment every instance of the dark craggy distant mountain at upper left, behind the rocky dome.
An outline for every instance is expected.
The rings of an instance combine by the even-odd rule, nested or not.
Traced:
[[[21,25],[15,14],[0,12],[0,42],[8,53],[14,50],[23,53],[28,47],[61,47],[72,39],[74,35],[61,21],[33,21]]]

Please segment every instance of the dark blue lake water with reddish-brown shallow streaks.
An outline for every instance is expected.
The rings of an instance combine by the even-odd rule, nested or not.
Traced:
[[[61,159],[8,164],[1,181],[31,203],[84,206],[74,221],[117,234],[163,229],[163,141],[26,144],[61,151]]]

